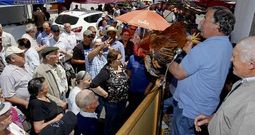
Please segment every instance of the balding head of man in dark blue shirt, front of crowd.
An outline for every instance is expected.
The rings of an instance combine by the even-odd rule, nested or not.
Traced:
[[[82,90],[75,97],[76,105],[84,110],[88,105],[93,103],[95,99],[95,94],[90,90]]]

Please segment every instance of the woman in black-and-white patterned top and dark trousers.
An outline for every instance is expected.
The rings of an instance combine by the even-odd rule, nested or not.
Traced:
[[[101,86],[108,93],[105,99],[105,135],[115,134],[122,123],[128,99],[128,76],[121,64],[121,54],[110,50],[107,64],[92,80],[91,88]]]

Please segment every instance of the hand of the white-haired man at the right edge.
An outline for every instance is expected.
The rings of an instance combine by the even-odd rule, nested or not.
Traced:
[[[211,119],[212,119],[212,116],[205,116],[203,114],[197,116],[194,120],[196,131],[201,132],[202,131],[201,126],[208,125]]]

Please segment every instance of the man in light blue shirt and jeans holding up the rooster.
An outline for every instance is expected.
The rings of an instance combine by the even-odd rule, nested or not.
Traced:
[[[217,108],[226,80],[232,52],[228,35],[235,18],[224,7],[210,7],[201,22],[206,40],[194,48],[184,49],[187,55],[171,63],[169,71],[178,79],[174,93],[172,135],[194,135],[194,119],[203,113],[211,115]]]

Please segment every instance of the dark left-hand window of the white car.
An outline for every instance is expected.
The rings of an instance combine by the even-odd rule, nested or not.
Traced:
[[[70,23],[71,25],[74,25],[77,23],[77,21],[79,20],[78,17],[75,16],[70,16],[70,15],[59,15],[55,22],[57,24],[64,24],[64,23]]]

